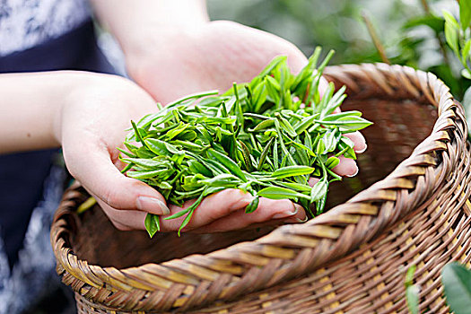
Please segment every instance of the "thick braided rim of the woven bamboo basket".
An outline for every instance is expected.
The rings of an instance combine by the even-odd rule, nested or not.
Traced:
[[[386,178],[325,214],[302,224],[280,226],[257,240],[159,264],[149,263],[118,270],[115,267],[89,265],[87,261],[80,260],[74,255],[73,249],[67,246],[70,231],[64,217],[65,214],[73,213],[74,206],[65,200],[63,203],[66,203],[65,207],[68,206],[65,208],[66,213],[59,213],[58,210],[51,228],[51,243],[57,257],[58,272],[68,273],[97,291],[160,290],[162,298],[168,299],[165,305],[161,305],[161,310],[188,310],[202,304],[196,300],[198,298],[205,299],[206,303],[227,301],[241,292],[254,292],[304,275],[345,256],[396,223],[413,208],[422,205],[440,187],[456,164],[458,156],[453,151],[462,149],[467,141],[464,111],[449,93],[449,88],[434,74],[402,65],[334,65],[326,68],[325,76],[327,80],[334,80],[336,85],[347,85],[353,97],[355,92],[362,92],[368,86],[370,92],[378,98],[383,95],[403,100],[421,99],[434,105],[438,109],[438,117],[431,135],[418,144],[413,153]],[[407,191],[407,194],[402,191]],[[241,265],[245,269],[236,271]],[[273,267],[276,270],[272,270],[271,275],[254,283],[251,277],[263,275],[265,268]],[[146,277],[139,276],[140,272],[144,272]],[[209,289],[211,283],[217,285],[220,291],[202,291],[203,286]],[[179,286],[179,293],[163,293],[176,285]],[[80,288],[74,286],[76,292],[93,300],[89,288],[86,291]],[[141,308],[137,309],[134,303],[130,303],[124,309]]]

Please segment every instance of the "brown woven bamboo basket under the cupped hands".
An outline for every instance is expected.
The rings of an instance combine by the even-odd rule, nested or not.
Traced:
[[[215,234],[117,231],[69,188],[52,225],[57,273],[79,313],[406,313],[417,266],[422,313],[448,313],[442,266],[471,258],[470,154],[460,104],[433,74],[398,65],[327,68],[343,109],[374,126],[360,173],[302,224]]]

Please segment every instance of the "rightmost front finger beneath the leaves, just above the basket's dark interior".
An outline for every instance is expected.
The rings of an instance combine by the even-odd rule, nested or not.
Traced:
[[[278,224],[281,221],[304,222],[306,217],[302,206],[293,204],[290,200],[273,200],[261,197],[255,212],[246,214],[243,210],[236,211],[226,217],[198,228],[196,232],[240,230],[252,225],[271,225]]]

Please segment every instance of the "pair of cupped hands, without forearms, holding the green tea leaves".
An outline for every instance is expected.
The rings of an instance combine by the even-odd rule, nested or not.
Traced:
[[[155,42],[149,39],[137,51],[126,55],[128,72],[152,97],[133,83],[107,76],[106,80],[98,79],[94,87],[75,93],[63,113],[67,167],[120,230],[144,229],[147,213],[175,214],[192,202],[183,208],[167,206],[155,189],[119,172],[123,165],[116,147],[121,146],[130,119],[153,112],[153,99],[165,104],[188,93],[225,91],[233,82],[248,82],[275,56],[287,56],[293,72],[300,71],[307,62],[301,51],[286,40],[233,22],[209,22],[193,30],[172,31]],[[320,89],[326,85],[324,82]],[[366,149],[360,133],[348,136],[356,152]],[[358,168],[353,160],[341,158],[334,170],[342,176],[353,176]],[[260,199],[254,213],[245,214],[251,197],[233,189],[208,196],[183,231],[230,231],[260,223],[306,219],[300,205],[266,198]],[[178,231],[181,219],[161,219],[162,231]]]

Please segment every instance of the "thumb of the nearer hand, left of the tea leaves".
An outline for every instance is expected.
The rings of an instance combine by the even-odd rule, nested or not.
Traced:
[[[144,182],[120,173],[100,145],[84,143],[80,149],[67,147],[64,152],[74,178],[110,207],[169,214],[163,196]],[[86,160],[83,156],[87,156]]]

